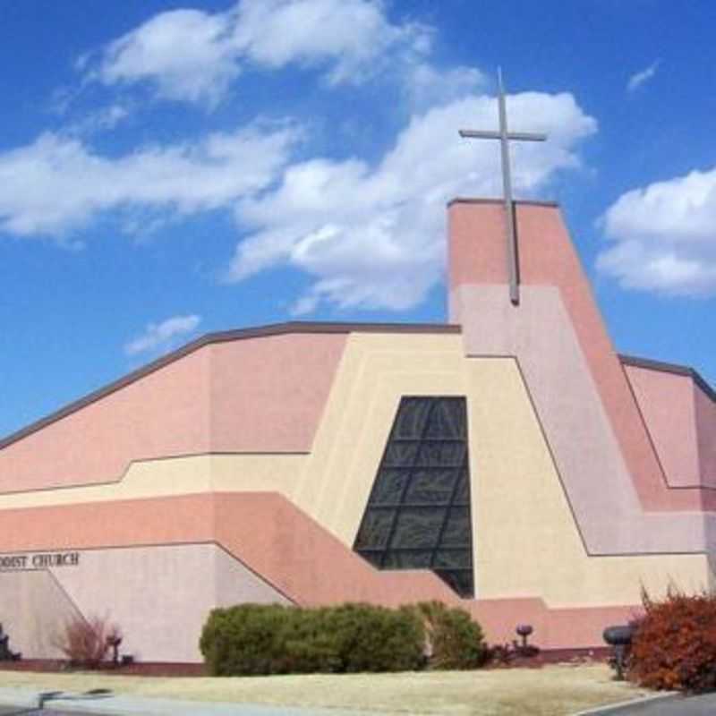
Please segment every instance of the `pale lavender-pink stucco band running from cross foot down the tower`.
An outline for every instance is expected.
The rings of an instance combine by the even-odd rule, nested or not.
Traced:
[[[702,552],[716,547],[698,511],[648,512],[556,286],[459,286],[468,356],[515,356],[588,554]],[[676,491],[676,490],[675,490]]]

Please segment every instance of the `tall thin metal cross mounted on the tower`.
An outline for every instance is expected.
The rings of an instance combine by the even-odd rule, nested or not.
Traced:
[[[502,190],[505,201],[505,229],[507,238],[507,277],[509,280],[509,299],[514,304],[520,303],[520,271],[517,252],[517,231],[515,226],[515,202],[512,199],[512,175],[509,162],[510,141],[545,141],[546,134],[535,132],[509,132],[507,130],[507,102],[505,87],[502,84],[502,72],[498,68],[498,111],[499,131],[461,129],[461,137],[480,140],[498,140],[500,160],[502,164]]]

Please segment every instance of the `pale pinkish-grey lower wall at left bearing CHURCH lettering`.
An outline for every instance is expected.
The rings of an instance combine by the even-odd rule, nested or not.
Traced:
[[[214,607],[288,600],[215,544],[82,550],[77,567],[0,573],[0,620],[13,651],[64,658],[72,618],[119,627],[137,661],[201,661],[201,627]]]

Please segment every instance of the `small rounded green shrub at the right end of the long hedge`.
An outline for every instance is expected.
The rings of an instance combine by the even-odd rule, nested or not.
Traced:
[[[423,601],[417,609],[425,622],[432,669],[477,669],[488,659],[481,626],[464,609]]]

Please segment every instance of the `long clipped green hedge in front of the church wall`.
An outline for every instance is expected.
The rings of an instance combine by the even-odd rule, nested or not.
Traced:
[[[368,604],[213,609],[200,650],[215,676],[418,669],[425,642],[414,609]]]

